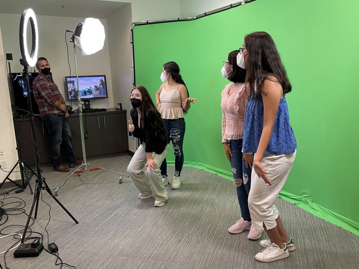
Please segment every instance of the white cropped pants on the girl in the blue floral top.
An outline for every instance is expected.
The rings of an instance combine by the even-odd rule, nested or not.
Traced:
[[[255,170],[252,169],[248,206],[253,226],[257,230],[263,230],[263,223],[268,230],[277,226],[275,220],[278,218],[279,212],[274,205],[274,201],[288,178],[296,152],[292,154],[263,156],[262,165],[267,171],[267,177],[272,185],[265,183],[262,178],[258,177]]]

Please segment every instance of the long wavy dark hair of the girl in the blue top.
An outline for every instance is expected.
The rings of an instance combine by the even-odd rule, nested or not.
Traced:
[[[267,32],[254,32],[244,37],[247,48],[246,85],[249,98],[261,98],[263,91],[263,72],[273,73],[283,89],[283,96],[292,91],[284,65],[275,43]],[[244,50],[246,53],[246,50]],[[268,79],[270,79],[268,77]],[[270,79],[272,81],[276,81]],[[258,89],[256,91],[256,89]]]

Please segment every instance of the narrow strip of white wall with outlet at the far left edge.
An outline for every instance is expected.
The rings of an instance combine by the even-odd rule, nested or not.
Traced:
[[[5,64],[3,43],[0,32],[0,114],[2,115],[0,128],[0,150],[4,150],[6,154],[5,157],[8,168],[4,170],[9,171],[17,162],[18,155],[16,151],[13,117],[11,115],[9,84],[7,77],[8,72],[6,71]],[[19,166],[15,169],[15,171],[19,171]],[[8,173],[0,170],[0,182],[3,182],[7,174]],[[20,179],[20,173],[11,174],[10,178],[18,180]]]

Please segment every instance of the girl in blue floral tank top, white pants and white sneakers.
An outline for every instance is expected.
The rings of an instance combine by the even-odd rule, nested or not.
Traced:
[[[244,38],[237,65],[246,69],[248,101],[243,126],[243,156],[254,152],[248,206],[253,226],[269,240],[255,255],[262,262],[284,259],[295,249],[274,201],[292,168],[297,142],[289,123],[285,94],[292,90],[271,36],[255,32]]]

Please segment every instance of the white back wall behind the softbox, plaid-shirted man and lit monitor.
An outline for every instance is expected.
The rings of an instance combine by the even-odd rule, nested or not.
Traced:
[[[65,30],[74,30],[76,25],[83,18],[67,18],[55,16],[36,16],[39,28],[39,57],[47,58],[51,66],[53,80],[59,86],[61,94],[65,95],[65,76],[70,75],[69,65],[67,63],[67,52],[65,44]],[[107,33],[106,20],[101,20]],[[19,45],[19,23],[20,15],[0,14],[1,34],[3,36],[4,53],[13,53],[11,61],[12,72],[22,72],[23,67],[19,63],[21,58]],[[67,33],[67,40],[70,40],[71,33]],[[69,46],[69,59],[71,66],[71,76],[75,75],[75,61],[72,43]],[[89,56],[83,56],[77,50],[76,52],[79,75],[106,75],[108,86],[108,99],[98,99],[91,103],[94,108],[112,108],[112,80],[111,69],[109,65],[108,38],[106,34],[104,48]],[[33,68],[29,69],[33,72]],[[36,71],[36,70],[35,70]],[[37,71],[36,71],[37,72]],[[75,109],[75,104],[73,103]]]

